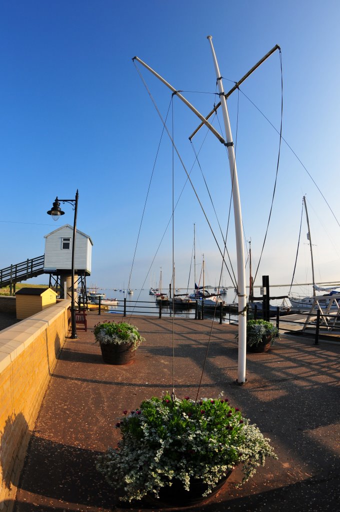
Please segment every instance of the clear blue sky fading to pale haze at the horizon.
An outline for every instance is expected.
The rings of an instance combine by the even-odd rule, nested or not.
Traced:
[[[283,137],[322,190],[337,220],[339,204],[339,54],[337,0],[272,2],[240,0],[2,0],[0,3],[0,268],[44,253],[44,235],[58,224],[47,216],[56,196],[79,189],[78,228],[93,240],[88,283],[103,288],[128,285],[146,202],[131,287],[171,281],[172,183],[177,201],[186,176],[132,57],[139,56],[206,115],[218,102],[207,35],[213,36],[224,88],[239,80],[275,44],[282,49]],[[171,92],[138,65],[162,116]],[[251,102],[249,101],[249,99]],[[226,231],[230,175],[223,146],[202,130],[188,136],[198,119],[178,98],[169,130],[221,244],[221,234],[204,187]],[[256,105],[256,107],[254,106]],[[281,70],[275,52],[228,102],[245,239],[257,266],[267,225],[280,129]],[[261,113],[259,112],[261,111]],[[238,113],[238,116],[237,116]],[[264,114],[264,116],[262,115]],[[214,120],[219,131],[221,114]],[[223,131],[224,133],[224,131]],[[193,166],[194,165],[194,166]],[[282,143],[277,189],[258,273],[290,283],[307,195],[317,281],[337,281],[340,228],[304,167]],[[204,253],[206,280],[218,282],[221,258],[192,187],[187,183],[175,212],[176,284],[185,286],[196,223],[197,260]],[[236,272],[233,215],[228,249]],[[296,281],[311,280],[303,227]],[[160,248],[155,257],[156,250]],[[151,275],[147,276],[151,268]],[[43,278],[38,278],[41,282]],[[156,282],[154,283],[156,284]],[[224,272],[224,285],[230,285]]]

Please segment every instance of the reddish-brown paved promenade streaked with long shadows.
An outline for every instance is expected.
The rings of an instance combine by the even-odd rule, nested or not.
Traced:
[[[26,458],[15,512],[109,512],[116,503],[95,470],[95,457],[119,439],[124,409],[172,391],[172,318],[134,317],[146,342],[134,365],[106,365],[93,326],[118,315],[88,315],[88,332],[68,340],[40,410]],[[324,512],[340,503],[340,344],[285,337],[266,354],[247,356],[247,383],[237,386],[236,327],[208,320],[175,320],[175,388],[196,397],[211,331],[200,397],[220,393],[271,439],[279,459],[267,459],[241,488],[239,468],[198,512]],[[157,510],[155,508],[154,510]],[[143,508],[147,511],[147,508]],[[169,508],[168,510],[178,510]]]

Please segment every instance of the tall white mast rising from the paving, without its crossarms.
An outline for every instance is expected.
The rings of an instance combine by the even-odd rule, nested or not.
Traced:
[[[241,200],[239,191],[239,180],[237,175],[235,151],[232,142],[231,127],[229,121],[229,114],[227,102],[224,96],[222,77],[218,66],[213,38],[211,35],[207,36],[209,40],[211,53],[213,54],[214,66],[216,71],[216,78],[218,89],[220,93],[221,107],[223,112],[224,129],[226,146],[228,151],[230,178],[232,183],[232,200],[235,217],[235,233],[236,233],[236,251],[237,251],[237,271],[238,271],[238,297],[239,297],[239,354],[238,354],[238,384],[243,384],[246,381],[246,334],[247,334],[247,316],[246,316],[246,281],[245,281],[245,260],[244,260],[244,244],[242,232],[242,212]]]

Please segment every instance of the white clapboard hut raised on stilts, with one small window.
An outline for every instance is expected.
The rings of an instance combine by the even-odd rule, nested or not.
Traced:
[[[72,269],[73,227],[65,224],[45,235],[44,271],[53,274],[69,273]],[[93,242],[88,234],[77,229],[74,254],[76,274],[90,275]]]

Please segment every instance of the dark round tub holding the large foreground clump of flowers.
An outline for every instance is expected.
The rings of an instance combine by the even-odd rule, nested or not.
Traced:
[[[221,478],[221,480],[218,482],[218,484],[214,487],[214,489],[208,496],[202,496],[202,494],[205,493],[205,491],[207,490],[208,486],[201,480],[194,479],[193,481],[190,481],[190,489],[185,490],[183,487],[183,483],[180,480],[175,479],[173,480],[173,484],[171,486],[161,488],[159,492],[159,499],[147,497],[145,498],[144,501],[146,504],[157,505],[158,507],[166,507],[168,505],[198,505],[216,496],[219,490],[222,489],[230,475],[231,471],[229,471],[224,478]]]

